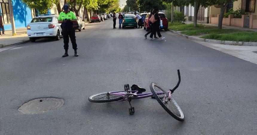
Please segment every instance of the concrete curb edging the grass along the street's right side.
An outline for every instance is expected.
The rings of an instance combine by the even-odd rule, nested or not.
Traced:
[[[169,30],[169,31],[172,33],[178,34],[180,36],[183,36],[184,38],[187,38],[187,39],[197,40],[197,41],[206,42],[206,43],[223,44],[223,45],[257,46],[257,42],[236,42],[236,41],[221,41],[221,40],[214,40],[214,39],[202,39],[195,36],[188,36],[180,32],[177,32],[175,30]]]

